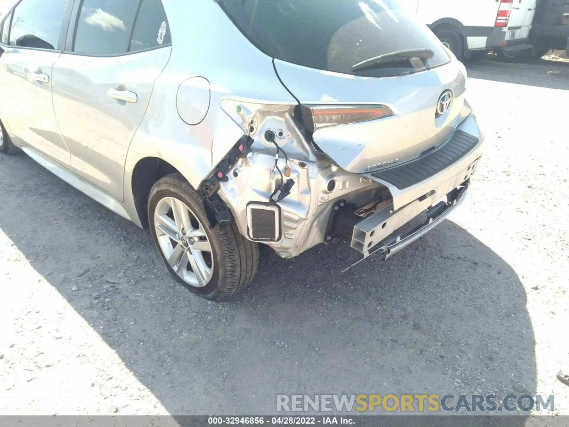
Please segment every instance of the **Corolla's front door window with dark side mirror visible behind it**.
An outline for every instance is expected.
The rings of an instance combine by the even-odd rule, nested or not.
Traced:
[[[23,0],[13,11],[9,44],[55,50],[67,2]]]

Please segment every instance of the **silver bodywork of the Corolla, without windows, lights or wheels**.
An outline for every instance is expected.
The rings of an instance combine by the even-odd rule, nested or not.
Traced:
[[[145,158],[170,163],[195,188],[236,142],[250,134],[219,194],[247,236],[246,204],[267,202],[280,181],[271,174],[275,143],[281,171],[295,185],[279,202],[282,239],[292,257],[324,241],[332,204],[363,203],[389,190],[401,207],[443,191],[467,158],[406,190],[371,175],[440,146],[457,129],[484,139],[465,101],[464,66],[451,62],[414,75],[372,79],[284,63],[263,54],[214,1],[164,0],[172,46],[122,56],[82,56],[5,47],[0,59],[0,117],[14,142],[73,186],[141,225],[133,171]],[[274,63],[273,63],[274,62]],[[278,75],[277,75],[278,73]],[[49,81],[46,81],[47,76]],[[281,83],[282,80],[282,83]],[[444,91],[454,99],[437,117]],[[9,102],[18,98],[17,106]],[[303,132],[306,105],[387,105],[394,116]],[[479,155],[480,145],[472,155]],[[335,188],[328,183],[335,180]]]

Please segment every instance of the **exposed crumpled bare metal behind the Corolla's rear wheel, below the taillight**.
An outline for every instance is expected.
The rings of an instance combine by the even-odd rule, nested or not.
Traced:
[[[272,203],[280,207],[280,239],[262,241],[279,256],[294,257],[326,241],[337,200],[358,205],[385,194],[385,186],[341,169],[308,142],[295,118],[296,104],[222,100],[220,106],[253,140],[250,151],[237,159],[219,183],[217,193],[233,213],[242,235],[250,236],[248,204],[270,203],[279,186],[294,182],[286,197]]]

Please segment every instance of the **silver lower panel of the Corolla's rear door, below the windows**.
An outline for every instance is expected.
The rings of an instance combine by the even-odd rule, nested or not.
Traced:
[[[53,67],[53,108],[71,169],[119,201],[130,141],[170,53],[164,47],[112,57],[63,54]]]

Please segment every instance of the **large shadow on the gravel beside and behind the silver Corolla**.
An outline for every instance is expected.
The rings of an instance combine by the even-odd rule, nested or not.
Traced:
[[[535,393],[519,277],[450,220],[346,273],[341,242],[263,251],[248,291],[216,304],[174,286],[147,232],[24,155],[1,160],[2,231],[171,414],[271,414],[277,393]]]

